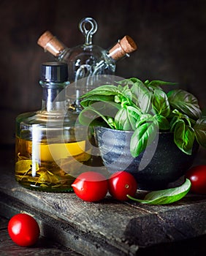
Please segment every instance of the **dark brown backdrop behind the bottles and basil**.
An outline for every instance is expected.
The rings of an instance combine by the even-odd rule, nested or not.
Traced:
[[[50,30],[69,48],[81,45],[78,23],[85,17],[97,21],[94,43],[102,48],[125,34],[137,42],[116,75],[178,82],[206,108],[205,0],[1,0],[1,145],[15,141],[15,116],[41,107],[39,67],[53,57],[37,39]]]

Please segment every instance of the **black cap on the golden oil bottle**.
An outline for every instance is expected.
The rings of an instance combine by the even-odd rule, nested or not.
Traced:
[[[63,83],[68,80],[68,66],[64,62],[45,62],[41,67],[41,78],[45,82]]]

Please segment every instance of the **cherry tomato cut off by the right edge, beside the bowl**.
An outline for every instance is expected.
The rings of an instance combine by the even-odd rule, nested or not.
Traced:
[[[206,165],[191,167],[186,178],[191,181],[191,192],[206,194]]]

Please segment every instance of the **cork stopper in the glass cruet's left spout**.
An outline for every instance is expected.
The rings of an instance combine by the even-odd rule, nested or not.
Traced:
[[[45,33],[39,37],[37,44],[44,48],[45,51],[52,53],[53,56],[58,56],[65,48],[64,45],[50,33],[50,31],[45,31]]]

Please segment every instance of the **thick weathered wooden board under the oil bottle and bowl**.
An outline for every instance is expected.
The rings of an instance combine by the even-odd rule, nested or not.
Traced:
[[[6,170],[1,180],[4,181],[0,184],[1,208],[2,205],[7,208],[5,215],[12,212],[14,203],[17,210],[24,207],[39,219],[43,236],[72,246],[77,252],[84,250],[85,255],[94,251],[96,255],[135,255],[140,247],[206,234],[204,196],[188,195],[171,206],[121,203],[110,195],[101,203],[88,203],[74,193],[24,189]]]

